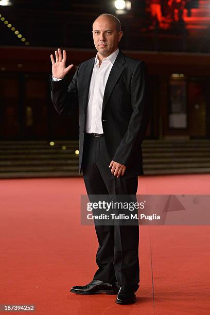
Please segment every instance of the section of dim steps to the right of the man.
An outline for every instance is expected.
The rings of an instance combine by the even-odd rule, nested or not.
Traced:
[[[210,140],[148,140],[143,143],[144,173],[210,172]]]

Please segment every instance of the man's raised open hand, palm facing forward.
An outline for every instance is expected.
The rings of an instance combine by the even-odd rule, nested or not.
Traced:
[[[55,51],[56,61],[54,60],[53,55],[50,55],[50,59],[52,62],[52,73],[54,78],[63,79],[68,71],[74,67],[74,64],[69,65],[67,68],[65,67],[66,62],[66,51],[63,50],[63,56],[61,53],[61,49],[58,48],[58,51]]]

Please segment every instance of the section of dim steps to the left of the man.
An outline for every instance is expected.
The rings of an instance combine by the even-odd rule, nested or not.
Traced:
[[[78,141],[0,142],[0,178],[78,176],[76,150]]]

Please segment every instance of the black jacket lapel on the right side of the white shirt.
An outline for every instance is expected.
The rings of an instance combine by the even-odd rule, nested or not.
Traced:
[[[114,86],[120,77],[121,73],[125,69],[125,58],[124,54],[119,50],[119,53],[117,55],[117,58],[112,66],[112,69],[110,71],[109,78],[107,80],[107,84],[104,90],[104,95],[103,95],[103,104],[102,104],[102,112],[104,111],[104,108],[106,107],[106,104],[110,98],[110,95],[112,93],[112,90],[114,89]]]

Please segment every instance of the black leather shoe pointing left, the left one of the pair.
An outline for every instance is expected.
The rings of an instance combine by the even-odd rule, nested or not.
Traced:
[[[114,284],[110,284],[110,283],[106,283],[100,280],[93,279],[86,286],[72,287],[70,292],[77,293],[77,294],[98,294],[98,293],[117,294],[118,289]]]

